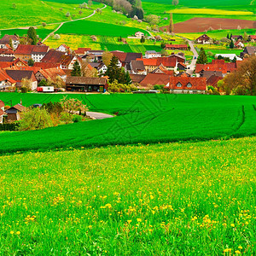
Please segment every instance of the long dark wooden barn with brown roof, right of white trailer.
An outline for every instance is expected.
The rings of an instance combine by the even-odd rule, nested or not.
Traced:
[[[107,89],[106,78],[67,77],[67,91],[103,92]]]

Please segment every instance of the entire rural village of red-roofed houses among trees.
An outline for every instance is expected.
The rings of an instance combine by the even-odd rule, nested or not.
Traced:
[[[33,27],[30,30],[35,32]],[[136,32],[135,38],[145,40],[145,35]],[[207,34],[202,34],[193,43],[187,40],[187,44],[175,44],[175,39],[171,40],[170,44],[162,42],[165,50],[162,53],[148,50],[143,55],[119,50],[95,50],[86,48],[86,45],[71,49],[61,44],[56,49],[50,49],[40,39],[35,45],[20,44],[18,36],[6,34],[0,39],[0,90],[22,93],[224,95],[227,91],[221,86],[223,79],[256,55],[256,46],[245,46],[247,42],[256,40],[255,35],[247,36],[246,41],[242,35],[230,35],[230,44],[241,49],[241,54],[216,54],[211,62],[207,61],[203,48],[199,54],[194,48],[194,44],[218,44],[213,43]],[[166,50],[192,50],[194,55],[191,61],[187,61],[183,51],[168,55]],[[244,93],[244,90],[237,93]],[[21,103],[4,108],[2,101],[0,124],[3,120],[12,122],[20,119],[19,113],[26,109]]]

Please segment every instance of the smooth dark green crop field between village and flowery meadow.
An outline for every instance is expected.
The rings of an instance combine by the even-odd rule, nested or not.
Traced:
[[[26,106],[59,101],[63,95],[0,93],[4,102]],[[91,111],[118,113],[113,119],[60,125],[42,131],[0,134],[0,152],[165,143],[246,137],[256,134],[253,96],[68,95]],[[99,128],[100,127],[100,128]]]

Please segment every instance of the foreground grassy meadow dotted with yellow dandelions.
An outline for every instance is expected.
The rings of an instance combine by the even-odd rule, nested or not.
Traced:
[[[255,151],[246,138],[0,156],[0,254],[254,255]]]

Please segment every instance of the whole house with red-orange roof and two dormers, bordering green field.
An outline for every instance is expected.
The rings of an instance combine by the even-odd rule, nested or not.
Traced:
[[[207,91],[206,78],[171,77],[166,90],[175,94],[205,94]]]

